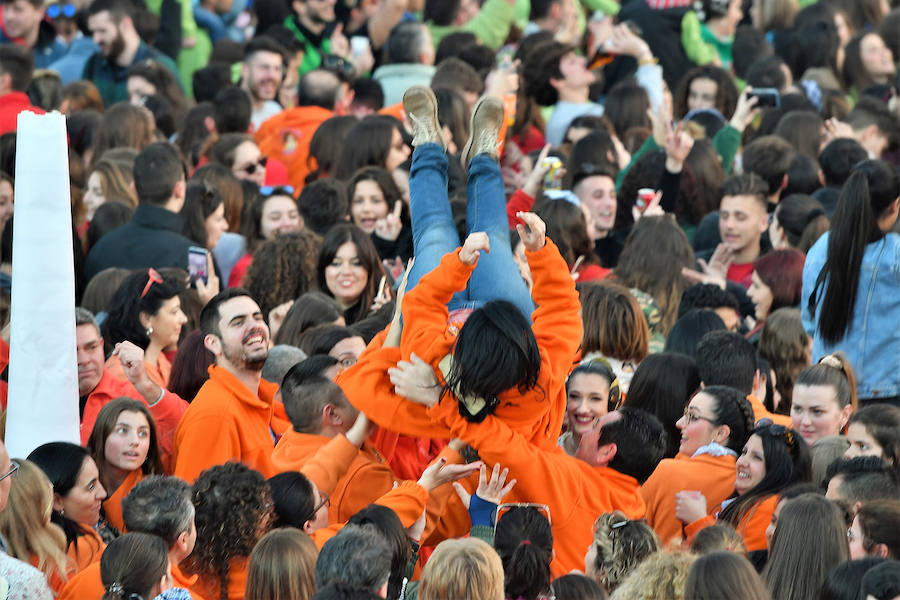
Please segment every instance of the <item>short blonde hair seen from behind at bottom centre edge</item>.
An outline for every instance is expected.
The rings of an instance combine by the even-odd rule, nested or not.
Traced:
[[[419,585],[419,600],[503,600],[503,564],[493,548],[477,538],[438,544]]]

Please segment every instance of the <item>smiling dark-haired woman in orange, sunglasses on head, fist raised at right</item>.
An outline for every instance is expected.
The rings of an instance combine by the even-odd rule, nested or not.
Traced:
[[[778,494],[809,481],[809,447],[797,431],[762,419],[744,445],[735,472],[734,494],[711,514],[702,493],[685,490],[676,494],[675,515],[685,524],[688,540],[719,519],[737,529],[748,551],[765,550]]]

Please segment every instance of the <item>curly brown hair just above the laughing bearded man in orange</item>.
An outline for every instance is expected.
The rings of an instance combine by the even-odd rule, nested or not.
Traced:
[[[244,287],[259,302],[267,321],[270,310],[318,287],[316,257],[320,241],[310,231],[282,233],[253,253]]]

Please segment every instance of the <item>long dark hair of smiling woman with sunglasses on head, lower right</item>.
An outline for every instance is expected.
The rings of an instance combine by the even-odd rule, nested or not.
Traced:
[[[741,521],[753,511],[757,502],[789,485],[810,479],[809,447],[797,431],[781,425],[761,425],[751,432],[750,436],[754,435],[762,441],[766,474],[762,481],[734,497],[734,502],[719,514],[720,520],[738,530]]]

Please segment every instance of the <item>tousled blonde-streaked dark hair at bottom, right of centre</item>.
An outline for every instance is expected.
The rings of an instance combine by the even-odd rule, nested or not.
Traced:
[[[643,519],[629,520],[624,513],[603,513],[594,523],[597,555],[592,565],[596,579],[614,590],[648,556],[660,549],[659,538]]]

